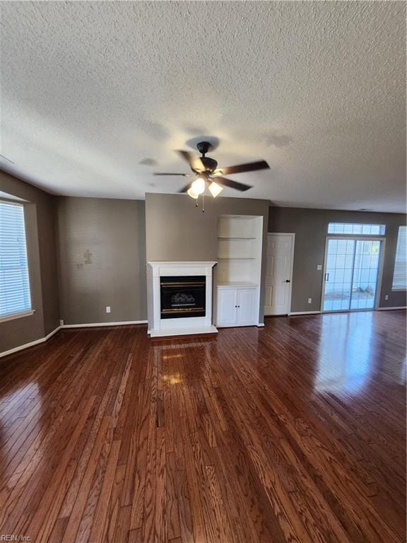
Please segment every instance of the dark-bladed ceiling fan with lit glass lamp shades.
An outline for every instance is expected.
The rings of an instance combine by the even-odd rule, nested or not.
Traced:
[[[200,141],[196,145],[201,156],[194,156],[189,151],[177,151],[177,153],[184,158],[189,164],[193,173],[155,173],[154,175],[182,175],[188,177],[189,175],[195,175],[194,181],[189,182],[188,185],[182,187],[179,192],[187,192],[191,198],[197,199],[199,194],[204,194],[206,186],[215,198],[223,191],[223,187],[230,187],[236,190],[248,190],[252,187],[250,185],[244,185],[231,179],[223,177],[232,173],[254,172],[255,170],[266,170],[270,168],[266,160],[259,160],[258,162],[251,162],[248,164],[239,164],[236,166],[226,166],[225,168],[218,168],[218,163],[213,158],[206,156],[211,144],[208,141]]]

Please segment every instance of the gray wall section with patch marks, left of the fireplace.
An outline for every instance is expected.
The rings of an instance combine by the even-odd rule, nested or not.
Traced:
[[[144,202],[59,197],[58,245],[66,325],[146,320]]]

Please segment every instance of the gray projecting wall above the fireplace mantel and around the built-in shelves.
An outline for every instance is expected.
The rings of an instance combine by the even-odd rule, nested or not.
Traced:
[[[199,202],[201,205],[201,202]],[[218,217],[262,215],[265,247],[269,200],[243,198],[205,199],[205,213],[184,194],[146,194],[147,262],[154,260],[216,260]],[[261,277],[264,278],[265,252]],[[216,277],[216,268],[214,270]],[[259,322],[264,320],[264,281],[261,281]]]

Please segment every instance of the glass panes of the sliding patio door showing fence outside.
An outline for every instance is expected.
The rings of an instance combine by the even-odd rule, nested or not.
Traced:
[[[323,311],[374,309],[381,240],[329,238]]]

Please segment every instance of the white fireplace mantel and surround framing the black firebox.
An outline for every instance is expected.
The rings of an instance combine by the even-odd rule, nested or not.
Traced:
[[[212,324],[212,268],[216,262],[148,262],[149,319],[151,337],[180,336],[188,334],[213,334],[218,332]],[[204,275],[206,277],[206,307],[204,317],[161,319],[160,277],[176,275]]]

